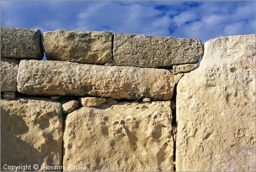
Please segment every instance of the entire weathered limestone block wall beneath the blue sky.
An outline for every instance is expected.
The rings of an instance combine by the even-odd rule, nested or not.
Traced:
[[[1,169],[255,170],[254,45],[2,27]]]

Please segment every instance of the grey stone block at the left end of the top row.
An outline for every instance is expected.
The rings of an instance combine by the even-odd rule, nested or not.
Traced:
[[[1,27],[1,59],[34,58],[41,60],[41,31],[37,29]]]

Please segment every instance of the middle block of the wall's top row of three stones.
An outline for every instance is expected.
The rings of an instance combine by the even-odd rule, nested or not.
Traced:
[[[48,60],[103,64],[110,62],[112,33],[56,30],[42,35]]]

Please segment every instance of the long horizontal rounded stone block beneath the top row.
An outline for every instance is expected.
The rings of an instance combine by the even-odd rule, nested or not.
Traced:
[[[164,69],[21,60],[17,91],[27,95],[68,94],[170,100],[174,90],[173,81],[174,75]]]

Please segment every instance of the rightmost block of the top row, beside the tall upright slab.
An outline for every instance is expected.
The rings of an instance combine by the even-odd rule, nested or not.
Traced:
[[[169,68],[196,63],[203,54],[199,39],[114,34],[113,65]]]

